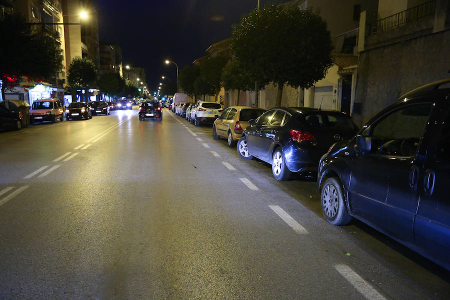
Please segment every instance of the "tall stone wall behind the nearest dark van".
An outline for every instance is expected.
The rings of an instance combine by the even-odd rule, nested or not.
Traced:
[[[420,85],[450,77],[450,30],[359,53],[353,120],[361,125]]]

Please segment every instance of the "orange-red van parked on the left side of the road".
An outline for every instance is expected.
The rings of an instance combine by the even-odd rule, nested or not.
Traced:
[[[29,115],[31,123],[42,121],[54,123],[56,119],[62,121],[64,119],[64,106],[58,98],[38,99],[31,104]]]

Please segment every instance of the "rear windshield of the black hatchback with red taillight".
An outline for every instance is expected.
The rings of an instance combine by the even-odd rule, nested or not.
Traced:
[[[357,129],[351,118],[335,113],[308,113],[306,115],[300,115],[300,121],[314,128]]]

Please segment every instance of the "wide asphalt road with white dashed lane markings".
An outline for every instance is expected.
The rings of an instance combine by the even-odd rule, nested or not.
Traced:
[[[0,132],[1,299],[450,297],[448,271],[328,224],[314,178],[134,108]]]

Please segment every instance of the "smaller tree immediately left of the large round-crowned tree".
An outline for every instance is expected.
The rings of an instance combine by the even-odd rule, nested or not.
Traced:
[[[254,79],[245,68],[241,67],[237,59],[228,61],[223,67],[221,82],[225,89],[237,89],[236,105],[239,105],[240,91],[251,90],[254,86]]]

